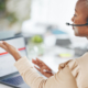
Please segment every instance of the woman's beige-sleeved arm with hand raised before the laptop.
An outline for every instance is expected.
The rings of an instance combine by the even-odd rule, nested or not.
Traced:
[[[1,42],[0,47],[14,57],[19,73],[31,88],[77,88],[75,77],[68,66],[63,67],[54,76],[45,79],[35,72],[26,57],[21,57],[15,47],[7,42]]]

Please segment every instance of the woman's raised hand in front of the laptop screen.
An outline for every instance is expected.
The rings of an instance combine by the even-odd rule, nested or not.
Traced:
[[[15,61],[21,58],[20,52],[14,46],[8,44],[7,42],[1,41],[0,42],[0,47],[2,47],[8,53],[10,53],[15,58]]]

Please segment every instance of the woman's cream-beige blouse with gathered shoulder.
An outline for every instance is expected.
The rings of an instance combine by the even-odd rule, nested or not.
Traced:
[[[36,73],[26,57],[14,66],[31,88],[88,88],[88,53],[61,64],[58,72],[47,79]]]

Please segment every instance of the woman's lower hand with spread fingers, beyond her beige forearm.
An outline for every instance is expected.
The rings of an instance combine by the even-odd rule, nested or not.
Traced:
[[[36,59],[32,59],[32,63],[35,64],[36,66],[34,66],[40,73],[42,73],[44,76],[46,76],[47,78],[53,76],[54,74],[52,73],[52,69],[42,61],[40,61],[38,58]],[[50,72],[50,73],[48,73]]]

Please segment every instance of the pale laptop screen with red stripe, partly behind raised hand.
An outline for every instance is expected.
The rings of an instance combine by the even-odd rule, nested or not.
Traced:
[[[6,40],[7,43],[13,45],[20,51],[22,56],[26,56],[25,43],[23,37],[15,37]],[[16,73],[18,69],[14,67],[14,58],[0,47],[0,77]]]

